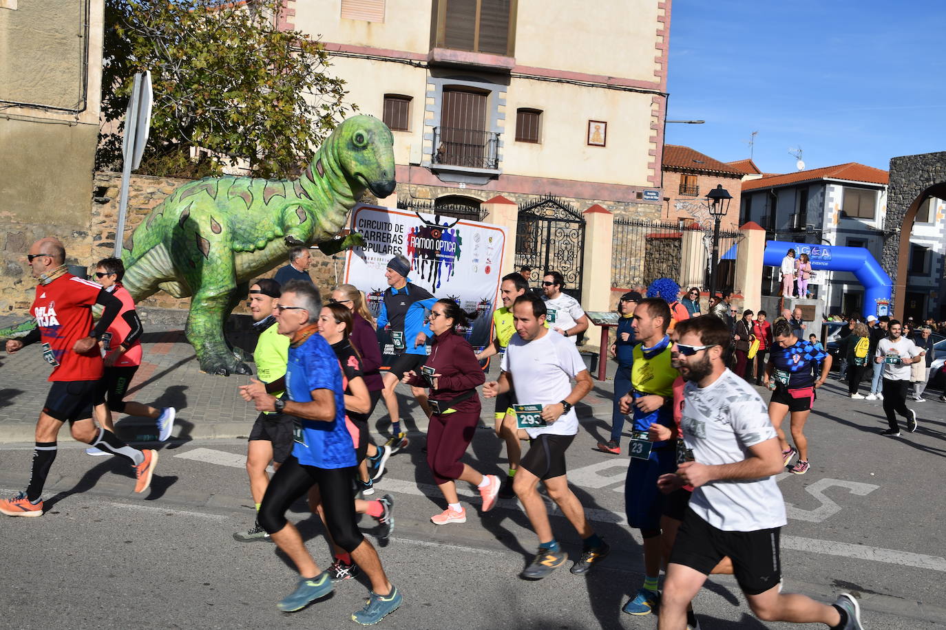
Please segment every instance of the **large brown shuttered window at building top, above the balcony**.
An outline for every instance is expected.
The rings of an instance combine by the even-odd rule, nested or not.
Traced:
[[[513,56],[517,0],[434,0],[431,45]]]

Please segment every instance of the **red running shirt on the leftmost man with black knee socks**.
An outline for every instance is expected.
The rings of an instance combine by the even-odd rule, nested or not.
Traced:
[[[92,305],[102,287],[72,274],[62,274],[49,284],[36,287],[29,312],[36,317],[44,344],[49,344],[59,366],[50,381],[97,381],[102,377],[102,355],[98,346],[85,354],[72,350],[92,332]]]

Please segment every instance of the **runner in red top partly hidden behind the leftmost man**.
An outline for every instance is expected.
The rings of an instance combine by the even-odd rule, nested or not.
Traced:
[[[125,265],[120,259],[106,258],[96,264],[96,279],[115,298],[121,300],[121,311],[109,330],[98,341],[105,370],[96,387],[95,417],[98,424],[114,433],[112,412],[157,420],[158,441],[164,442],[174,429],[174,407],[157,409],[149,404],[123,400],[134,373],[141,366],[141,333],[143,328],[131,294],[121,285]],[[106,400],[108,404],[106,404]],[[111,452],[89,447],[90,455],[111,455]]]

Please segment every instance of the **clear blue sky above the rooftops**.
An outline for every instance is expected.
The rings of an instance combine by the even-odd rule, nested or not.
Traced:
[[[946,151],[946,2],[674,0],[666,142],[762,172]]]

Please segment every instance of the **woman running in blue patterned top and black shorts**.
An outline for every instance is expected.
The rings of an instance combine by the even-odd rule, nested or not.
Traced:
[[[832,356],[824,349],[815,348],[811,341],[798,339],[788,321],[778,321],[772,327],[772,353],[762,384],[772,390],[768,414],[779,434],[781,456],[788,466],[795,455],[798,461],[789,472],[803,475],[808,472],[808,439],[805,437],[805,422],[815,404],[815,389],[828,380],[831,373]],[[821,367],[821,376],[815,381],[815,369]],[[781,430],[785,414],[791,414],[790,426],[795,446],[788,444]]]

